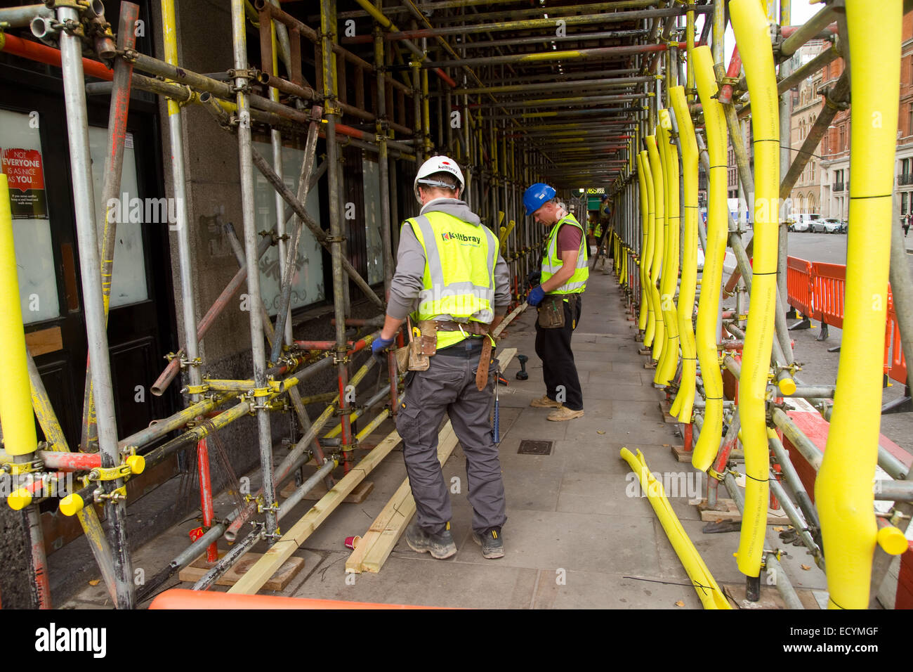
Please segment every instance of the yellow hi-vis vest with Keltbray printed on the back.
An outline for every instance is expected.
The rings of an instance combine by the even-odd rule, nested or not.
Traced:
[[[446,212],[406,219],[425,250],[424,288],[416,320],[454,320],[491,324],[495,313],[495,262],[498,239],[484,226],[467,224]],[[437,347],[466,338],[459,331],[437,333]]]

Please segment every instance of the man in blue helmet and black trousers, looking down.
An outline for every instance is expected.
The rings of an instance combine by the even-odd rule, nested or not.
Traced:
[[[542,360],[545,396],[532,400],[537,409],[555,409],[548,419],[566,421],[583,416],[583,393],[573,361],[571,336],[580,323],[582,293],[589,277],[587,240],[577,219],[561,207],[555,190],[537,183],[523,194],[527,216],[551,227],[542,252],[541,284],[527,303],[539,306],[536,354]]]

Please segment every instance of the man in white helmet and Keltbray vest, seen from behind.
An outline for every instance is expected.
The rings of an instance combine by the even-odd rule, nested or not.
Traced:
[[[419,168],[413,188],[422,209],[403,223],[383,329],[372,344],[375,355],[389,347],[411,314],[410,336],[421,344],[413,347],[427,358],[411,361],[396,414],[415,497],[415,521],[405,540],[409,548],[441,560],[456,553],[448,486],[437,459],[445,412],[466,454],[473,539],[485,558],[503,557],[501,526],[507,520],[488,421],[498,375],[488,332],[510,303],[508,266],[497,236],[459,199],[464,184],[456,161],[447,156],[432,156]]]

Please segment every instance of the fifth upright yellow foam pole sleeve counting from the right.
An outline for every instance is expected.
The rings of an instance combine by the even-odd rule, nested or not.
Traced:
[[[659,111],[659,142],[663,157],[663,177],[666,181],[666,254],[663,259],[663,277],[660,283],[660,301],[663,323],[666,325],[666,345],[656,366],[653,382],[668,385],[678,368],[678,314],[676,289],[678,285],[678,150],[672,144],[672,120],[668,110]]]

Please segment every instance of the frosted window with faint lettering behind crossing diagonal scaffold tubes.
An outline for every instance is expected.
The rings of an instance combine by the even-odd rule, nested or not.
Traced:
[[[257,152],[265,156],[272,165],[272,145],[255,142],[254,146]],[[293,147],[282,148],[282,181],[293,193],[298,193],[298,177],[301,174],[303,161],[303,150]],[[267,178],[260,175],[257,168],[254,168],[254,202],[258,231],[276,228],[275,194],[276,191],[267,182]],[[308,199],[305,201],[304,207],[311,219],[320,222],[318,189],[314,188],[308,192]],[[287,232],[291,235],[291,226],[287,228]],[[314,239],[314,235],[307,227],[301,231],[295,269],[296,275],[291,285],[291,307],[299,308],[322,301],[324,297],[323,254],[320,251],[320,243]],[[260,295],[263,296],[263,304],[266,305],[269,315],[276,315],[278,312],[280,280],[278,247],[271,247],[260,259]]]

